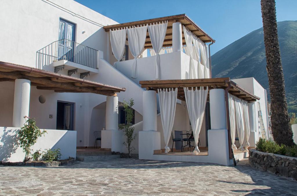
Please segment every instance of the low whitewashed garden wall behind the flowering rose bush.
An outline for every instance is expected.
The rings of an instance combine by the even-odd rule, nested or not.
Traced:
[[[0,161],[20,162],[25,158],[23,149],[18,144],[17,132],[19,128],[0,127]],[[32,146],[33,152],[45,149],[60,149],[61,159],[76,157],[76,131],[50,130],[37,139]]]

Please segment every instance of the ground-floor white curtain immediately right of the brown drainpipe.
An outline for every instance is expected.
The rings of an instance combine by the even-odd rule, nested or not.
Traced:
[[[230,117],[230,133],[231,133],[231,142],[232,142],[232,149],[237,150],[235,146],[235,106],[234,106],[234,95],[228,93],[228,100],[229,100],[229,117]]]

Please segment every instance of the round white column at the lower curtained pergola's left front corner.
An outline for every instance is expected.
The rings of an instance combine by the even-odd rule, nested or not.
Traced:
[[[157,97],[156,91],[143,91],[143,130],[157,131]]]

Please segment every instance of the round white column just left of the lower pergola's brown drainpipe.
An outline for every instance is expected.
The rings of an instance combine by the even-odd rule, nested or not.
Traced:
[[[224,89],[209,91],[211,129],[227,129]]]

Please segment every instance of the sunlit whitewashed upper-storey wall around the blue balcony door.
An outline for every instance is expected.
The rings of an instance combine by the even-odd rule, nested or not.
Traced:
[[[60,17],[76,24],[76,42],[103,51],[106,58],[102,27],[117,24],[114,20],[72,0],[10,0],[1,2],[0,60],[35,67],[36,51],[58,40]]]

